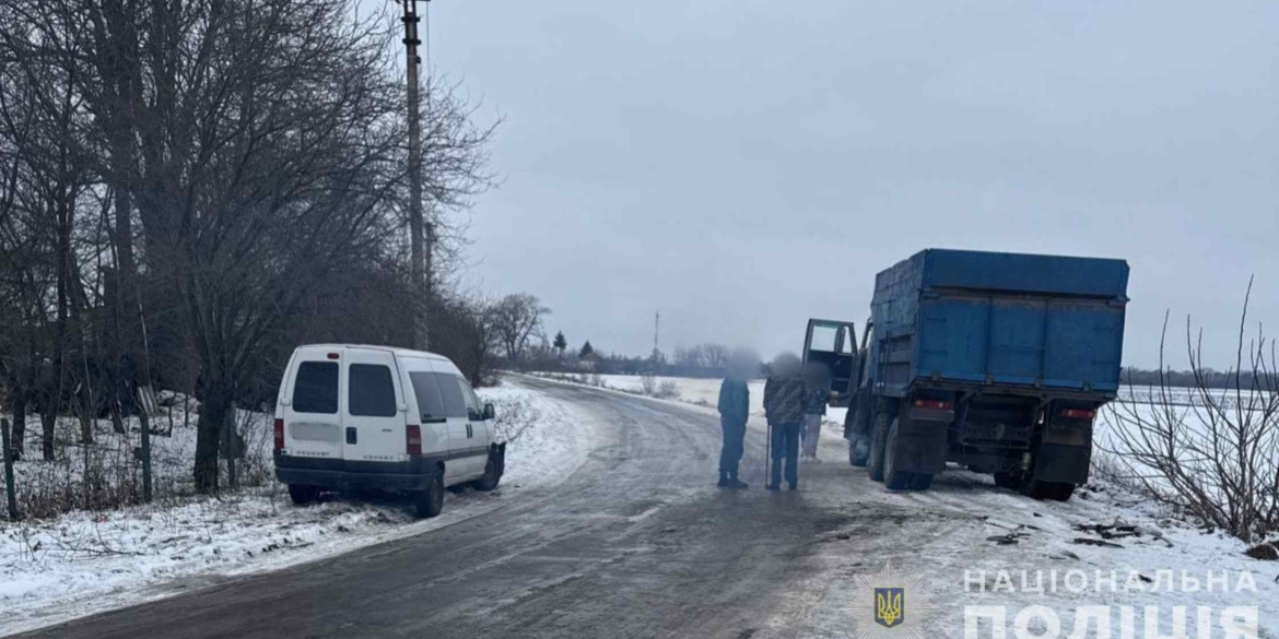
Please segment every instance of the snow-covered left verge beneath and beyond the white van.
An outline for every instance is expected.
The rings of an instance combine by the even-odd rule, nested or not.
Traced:
[[[477,394],[495,404],[496,428],[509,442],[505,477],[492,493],[448,495],[435,519],[417,520],[394,498],[295,507],[270,482],[220,500],[0,524],[0,635],[443,528],[554,486],[585,461],[591,433],[572,406],[518,383]]]

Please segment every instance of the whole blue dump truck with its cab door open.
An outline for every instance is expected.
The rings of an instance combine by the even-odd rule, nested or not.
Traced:
[[[804,364],[848,408],[852,465],[889,489],[949,461],[1065,501],[1119,390],[1127,290],[1122,259],[929,249],[875,277],[861,344],[811,320]]]

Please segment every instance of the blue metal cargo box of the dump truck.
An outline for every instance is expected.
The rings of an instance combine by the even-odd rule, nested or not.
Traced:
[[[871,313],[879,391],[918,380],[1113,394],[1128,265],[929,249],[880,272]]]

